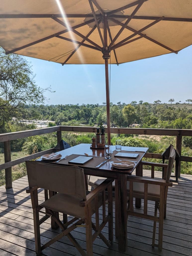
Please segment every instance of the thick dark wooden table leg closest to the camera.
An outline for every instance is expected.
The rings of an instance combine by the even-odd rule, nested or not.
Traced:
[[[119,239],[119,251],[125,251],[127,248],[127,175],[118,174],[118,239]],[[116,199],[117,200],[117,199]]]

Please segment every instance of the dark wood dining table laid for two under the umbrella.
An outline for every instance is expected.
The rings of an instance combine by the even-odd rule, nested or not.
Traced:
[[[88,188],[87,175],[114,178],[116,180],[116,183],[115,183],[115,205],[116,205],[115,231],[116,231],[116,237],[118,237],[118,241],[119,241],[118,242],[119,251],[123,252],[127,248],[127,194],[126,194],[127,175],[131,175],[133,170],[136,168],[136,176],[142,176],[142,171],[140,170],[139,162],[142,160],[148,148],[122,146],[121,152],[138,153],[139,155],[136,159],[121,158],[122,160],[126,159],[126,160],[136,161],[137,163],[135,163],[135,166],[133,168],[117,169],[112,167],[111,165],[112,161],[117,161],[117,159],[114,157],[114,155],[118,153],[115,150],[115,146],[111,146],[111,152],[113,152],[111,154],[111,159],[109,159],[108,162],[106,162],[99,168],[96,168],[96,166],[101,162],[103,162],[104,160],[106,160],[104,157],[104,149],[93,149],[93,148],[90,148],[90,146],[91,144],[82,143],[82,144],[57,152],[57,153],[60,153],[62,157],[65,157],[66,155],[69,155],[69,156],[67,157],[67,159],[63,159],[60,162],[55,164],[68,165],[68,166],[72,165],[72,164],[69,164],[68,162],[79,155],[84,155],[84,153],[87,153],[93,156],[99,156],[99,157],[93,157],[91,161],[87,162],[84,165],[78,165],[78,164],[77,165],[84,169],[86,189]],[[45,161],[40,158],[40,159],[37,159],[36,161],[53,163],[56,160]],[[139,206],[139,200],[138,200],[138,206]]]

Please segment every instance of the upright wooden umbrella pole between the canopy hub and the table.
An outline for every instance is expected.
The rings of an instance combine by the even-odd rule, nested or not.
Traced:
[[[111,145],[111,131],[110,131],[110,106],[109,106],[109,72],[108,59],[105,59],[105,82],[106,82],[106,106],[107,106],[107,138],[108,144]]]

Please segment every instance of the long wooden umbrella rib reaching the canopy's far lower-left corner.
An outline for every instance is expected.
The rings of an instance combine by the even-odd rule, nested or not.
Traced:
[[[73,29],[79,28],[79,27],[85,26],[85,25],[87,25],[87,24],[89,24],[89,23],[92,23],[93,21],[94,21],[94,19],[91,19],[91,20],[88,20],[88,21],[86,21],[86,22],[84,22],[84,23],[82,23],[82,24],[75,25],[75,26],[72,27],[72,28],[73,28]],[[41,39],[36,40],[36,41],[34,41],[34,42],[31,42],[31,43],[29,43],[29,44],[27,44],[27,45],[23,45],[23,46],[18,47],[18,48],[16,48],[16,49],[7,51],[5,54],[7,55],[7,54],[10,54],[10,53],[12,53],[12,52],[16,52],[16,51],[22,50],[22,49],[27,48],[27,47],[29,47],[29,46],[38,44],[38,43],[43,42],[43,41],[45,41],[45,40],[48,40],[48,39],[50,39],[50,38],[53,38],[53,37],[59,36],[59,35],[61,35],[61,34],[64,34],[64,33],[68,32],[68,31],[69,31],[68,29],[62,30],[62,31],[60,31],[60,32],[58,32],[58,33],[55,33],[55,34],[53,34],[53,35],[46,36],[46,37],[44,37],[44,38],[41,38]]]

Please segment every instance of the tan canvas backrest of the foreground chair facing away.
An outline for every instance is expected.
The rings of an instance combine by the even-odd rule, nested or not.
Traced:
[[[29,187],[39,187],[86,200],[84,171],[78,166],[60,166],[26,161]]]

